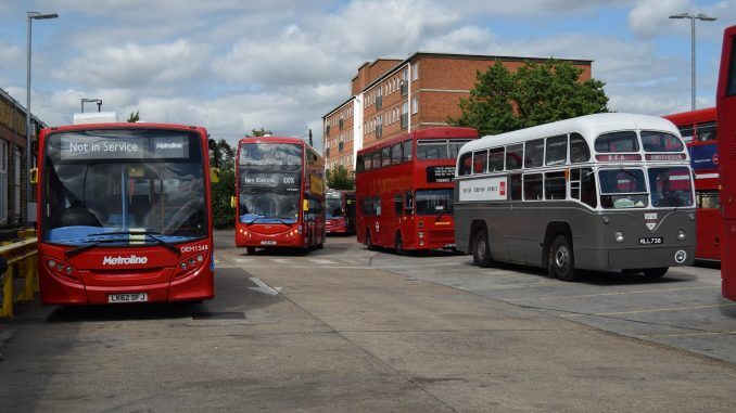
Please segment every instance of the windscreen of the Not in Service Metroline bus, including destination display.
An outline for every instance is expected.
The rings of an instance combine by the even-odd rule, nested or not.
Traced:
[[[141,129],[52,134],[46,141],[43,241],[84,245],[103,236],[105,243],[119,245],[205,237],[202,162],[195,133]],[[120,232],[155,237],[117,236]]]

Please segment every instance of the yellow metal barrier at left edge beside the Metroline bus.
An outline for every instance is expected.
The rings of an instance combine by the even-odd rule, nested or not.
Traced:
[[[2,307],[0,317],[13,315],[13,304],[17,301],[29,301],[34,299],[34,294],[38,292],[38,254],[36,238],[26,238],[15,243],[0,246],[0,256],[8,261],[8,271],[0,274],[2,281]],[[17,296],[13,296],[13,279],[23,278],[25,283],[23,291]]]

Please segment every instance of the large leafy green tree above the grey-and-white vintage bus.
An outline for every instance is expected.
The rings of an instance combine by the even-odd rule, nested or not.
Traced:
[[[609,112],[605,83],[580,81],[583,69],[570,62],[526,62],[511,73],[500,62],[477,73],[470,96],[460,99],[461,115],[449,118],[453,126],[467,126],[483,134],[497,134]]]

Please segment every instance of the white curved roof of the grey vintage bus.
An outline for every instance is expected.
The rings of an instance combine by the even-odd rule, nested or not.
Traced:
[[[637,129],[665,131],[680,138],[677,128],[670,120],[659,116],[602,113],[538,125],[531,128],[515,130],[512,132],[485,135],[477,141],[466,143],[460,149],[460,153],[521,143],[534,139],[549,138],[571,132],[582,134],[588,144],[591,144],[593,140],[601,133]]]

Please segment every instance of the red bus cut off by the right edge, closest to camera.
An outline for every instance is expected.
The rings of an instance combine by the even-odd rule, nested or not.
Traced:
[[[723,34],[721,69],[715,92],[715,119],[721,173],[721,242],[723,296],[736,300],[736,26]]]

